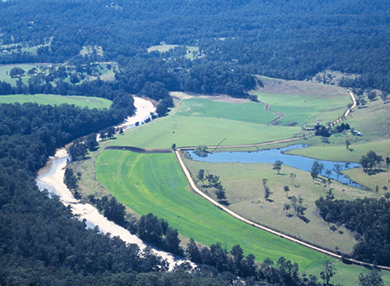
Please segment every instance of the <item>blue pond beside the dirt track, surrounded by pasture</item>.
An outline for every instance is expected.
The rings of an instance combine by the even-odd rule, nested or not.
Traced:
[[[348,184],[350,186],[361,187],[359,184],[351,181],[351,179],[348,178],[347,176],[338,174],[336,173],[336,171],[334,171],[334,169],[336,168],[335,167],[336,164],[341,165],[342,170],[361,167],[359,164],[318,160],[318,159],[313,159],[313,158],[304,157],[300,155],[290,155],[284,153],[288,150],[306,148],[306,147],[307,145],[296,144],[281,149],[268,149],[268,150],[254,151],[254,152],[217,152],[217,153],[209,153],[208,156],[205,158],[197,156],[192,150],[188,152],[188,155],[190,159],[195,161],[214,162],[214,163],[236,162],[236,163],[273,164],[275,163],[276,160],[280,160],[283,162],[283,165],[287,165],[308,172],[311,171],[311,167],[313,166],[314,161],[318,161],[319,163],[324,165],[324,169],[321,174],[322,176],[328,177],[325,171],[331,170],[332,172],[329,175],[329,178],[333,180],[337,180],[344,184]],[[281,172],[283,172],[283,165],[282,165]]]

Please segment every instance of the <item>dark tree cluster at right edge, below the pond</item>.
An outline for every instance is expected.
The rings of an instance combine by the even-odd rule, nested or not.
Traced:
[[[390,266],[388,200],[364,198],[347,201],[321,197],[316,206],[326,222],[345,225],[356,233],[355,259]]]

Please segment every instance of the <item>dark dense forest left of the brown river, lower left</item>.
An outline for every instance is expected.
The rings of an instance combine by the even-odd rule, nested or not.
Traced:
[[[55,148],[110,121],[104,112],[89,112],[67,105],[0,105],[2,285],[107,285],[166,269],[166,263],[148,251],[141,256],[136,245],[86,229],[70,208],[35,184],[35,172]],[[96,115],[107,122],[94,123]],[[66,179],[75,183],[69,171]]]

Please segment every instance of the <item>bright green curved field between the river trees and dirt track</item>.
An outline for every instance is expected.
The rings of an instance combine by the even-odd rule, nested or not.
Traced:
[[[166,219],[179,233],[210,245],[240,244],[257,261],[281,255],[309,270],[326,256],[242,223],[189,192],[173,154],[105,150],[96,159],[96,177],[120,202],[139,214]]]

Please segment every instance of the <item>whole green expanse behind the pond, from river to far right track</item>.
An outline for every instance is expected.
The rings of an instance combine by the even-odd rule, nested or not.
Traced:
[[[321,116],[329,120],[345,111],[349,96],[337,93],[316,98],[307,95],[259,94],[259,98],[285,116],[280,125],[267,125],[276,117],[256,102],[229,103],[192,97],[176,101],[175,109],[142,128],[130,130],[116,140],[115,145],[131,145],[143,148],[170,148],[197,145],[243,145],[269,142],[302,135],[301,125],[314,123]],[[328,104],[332,99],[334,103]],[[301,106],[304,101],[310,106]],[[282,103],[285,102],[283,106]],[[287,108],[291,104],[294,108]],[[301,107],[300,107],[301,106]],[[324,106],[330,106],[325,108]],[[310,108],[314,111],[311,111]],[[296,111],[296,109],[298,111]],[[324,115],[325,114],[325,115]],[[336,116],[337,115],[337,116]],[[288,126],[293,125],[293,126]]]

